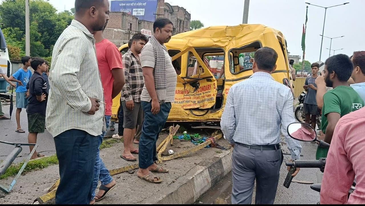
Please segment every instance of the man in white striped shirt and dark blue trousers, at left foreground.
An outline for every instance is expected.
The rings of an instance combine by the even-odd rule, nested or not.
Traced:
[[[46,126],[54,137],[61,177],[56,204],[89,204],[97,136],[105,130],[103,86],[95,31],[109,19],[108,0],[76,0],[75,19],[52,53]]]

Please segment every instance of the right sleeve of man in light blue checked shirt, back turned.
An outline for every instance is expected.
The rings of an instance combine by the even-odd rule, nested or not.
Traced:
[[[300,160],[301,145],[299,141],[292,139],[287,132],[288,125],[296,122],[293,113],[293,95],[289,91],[284,108],[281,112],[281,132],[287,142],[288,149],[292,155],[292,160]]]

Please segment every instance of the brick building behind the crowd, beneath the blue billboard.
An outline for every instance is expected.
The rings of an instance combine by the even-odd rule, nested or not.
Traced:
[[[156,18],[168,18],[174,24],[172,34],[190,30],[191,15],[185,8],[172,6],[164,0],[158,0]],[[121,46],[141,29],[153,31],[153,22],[139,20],[137,17],[124,12],[110,12],[107,28],[104,30],[104,37]]]

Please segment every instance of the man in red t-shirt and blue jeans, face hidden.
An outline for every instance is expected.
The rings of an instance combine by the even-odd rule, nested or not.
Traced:
[[[105,25],[106,26],[106,25]],[[122,55],[118,48],[110,42],[108,39],[104,39],[103,31],[97,31],[94,33],[96,40],[96,57],[100,71],[101,83],[104,88],[105,99],[105,123],[108,128],[110,118],[112,114],[113,98],[118,96],[122,91],[125,83]],[[103,135],[98,136],[99,147],[103,142]],[[100,150],[98,147],[96,160],[95,160],[95,174],[93,180],[93,194],[91,197],[91,204],[95,201],[99,201],[115,187],[115,180],[110,176],[109,170],[105,167],[103,160],[100,158]],[[101,181],[99,192],[95,195],[97,184]]]

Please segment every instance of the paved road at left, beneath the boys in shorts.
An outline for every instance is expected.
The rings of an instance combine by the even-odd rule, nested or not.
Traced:
[[[3,112],[5,115],[9,116],[9,105],[3,105]],[[18,133],[16,130],[16,119],[15,119],[16,109],[12,112],[11,120],[0,120],[0,140],[9,141],[14,143],[28,143],[28,119],[26,109],[23,109],[20,113],[20,125],[26,133]],[[115,124],[115,128],[118,129],[118,124]],[[117,131],[115,131],[116,133]],[[108,131],[107,136],[113,135],[114,132]],[[37,137],[37,143],[39,143],[37,151],[41,152],[43,155],[53,155],[56,153],[54,147],[54,141],[51,134],[45,130],[44,133],[39,133]],[[14,146],[0,143],[0,162],[4,160],[7,155],[14,149]],[[22,162],[27,158],[27,153],[29,153],[29,147],[23,146],[23,151],[20,153],[19,157],[16,158],[14,163]]]

